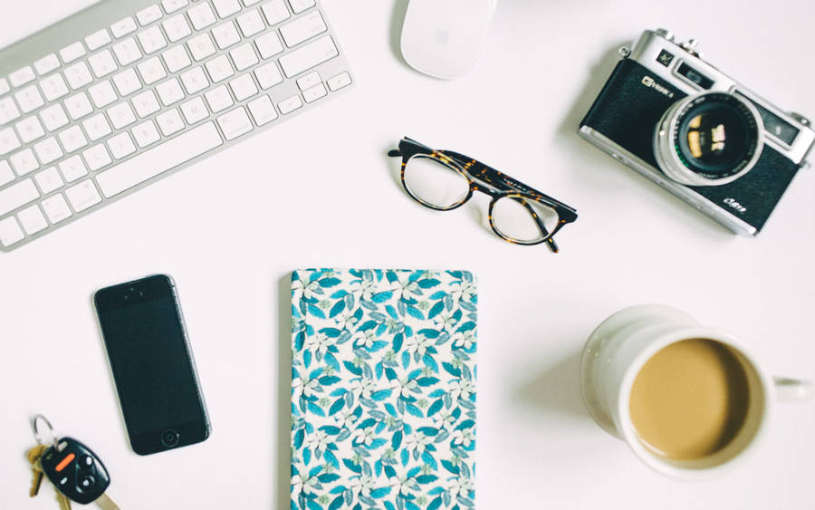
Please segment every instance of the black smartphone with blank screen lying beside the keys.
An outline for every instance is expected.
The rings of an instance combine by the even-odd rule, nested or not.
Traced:
[[[176,285],[157,274],[94,295],[110,370],[139,455],[186,447],[209,437]]]

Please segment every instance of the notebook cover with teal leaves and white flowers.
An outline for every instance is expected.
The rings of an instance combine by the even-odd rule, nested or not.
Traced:
[[[466,271],[292,274],[292,510],[475,508]]]

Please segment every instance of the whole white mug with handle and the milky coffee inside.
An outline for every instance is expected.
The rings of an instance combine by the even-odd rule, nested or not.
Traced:
[[[775,399],[811,392],[810,383],[768,377],[733,334],[650,304],[615,313],[591,333],[580,383],[600,427],[648,466],[686,479],[742,461]]]

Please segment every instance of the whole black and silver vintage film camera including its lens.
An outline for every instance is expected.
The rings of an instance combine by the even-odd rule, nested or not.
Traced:
[[[645,31],[600,91],[580,136],[714,218],[755,236],[815,145],[780,111],[705,63],[695,42]]]

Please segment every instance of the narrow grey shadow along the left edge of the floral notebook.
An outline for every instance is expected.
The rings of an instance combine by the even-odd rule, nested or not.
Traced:
[[[292,274],[277,281],[277,433],[272,438],[273,508],[291,506],[292,494]]]

